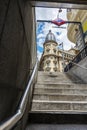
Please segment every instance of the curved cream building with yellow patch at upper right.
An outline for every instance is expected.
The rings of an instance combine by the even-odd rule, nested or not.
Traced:
[[[67,12],[67,18],[69,21],[81,22],[81,25],[69,24],[67,33],[69,40],[75,43],[76,47],[80,51],[84,48],[84,44],[87,43],[87,11],[71,9]]]

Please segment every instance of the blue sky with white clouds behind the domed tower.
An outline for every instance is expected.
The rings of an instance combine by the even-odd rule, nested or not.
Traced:
[[[37,20],[54,20],[58,15],[58,8],[41,8],[36,7],[36,21]],[[59,13],[59,18],[67,21],[67,10],[62,9]],[[67,24],[62,25],[63,28],[55,28],[56,25],[46,22],[36,22],[36,42],[37,42],[37,57],[40,59],[43,52],[43,43],[49,30],[54,33],[58,44],[63,42],[64,50],[69,50],[75,44],[70,42],[67,38]],[[61,49],[61,48],[60,48]]]

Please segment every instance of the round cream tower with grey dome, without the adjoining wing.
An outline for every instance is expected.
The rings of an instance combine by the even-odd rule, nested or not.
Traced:
[[[58,71],[58,54],[57,54],[57,42],[55,35],[49,30],[45,42],[44,52],[42,54],[41,68],[43,71],[56,72]]]

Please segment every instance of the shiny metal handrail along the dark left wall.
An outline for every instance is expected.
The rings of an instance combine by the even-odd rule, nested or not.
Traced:
[[[34,80],[37,68],[38,68],[38,60],[36,61],[34,70],[32,72],[26,90],[24,92],[24,95],[22,97],[21,103],[19,104],[17,112],[12,117],[10,117],[10,119],[8,119],[7,121],[5,121],[3,124],[0,125],[0,130],[10,130],[22,118],[26,109],[30,86]]]

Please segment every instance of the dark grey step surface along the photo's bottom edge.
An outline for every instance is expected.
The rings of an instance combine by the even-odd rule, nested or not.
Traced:
[[[87,130],[86,124],[41,124],[41,123],[31,123],[28,124],[25,130]]]

